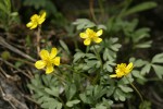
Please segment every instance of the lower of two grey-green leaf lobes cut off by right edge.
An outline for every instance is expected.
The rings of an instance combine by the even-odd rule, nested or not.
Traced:
[[[163,76],[163,66],[152,64],[152,68],[154,69],[155,74],[158,75],[158,77],[162,78],[162,76]]]

